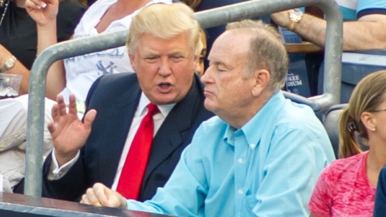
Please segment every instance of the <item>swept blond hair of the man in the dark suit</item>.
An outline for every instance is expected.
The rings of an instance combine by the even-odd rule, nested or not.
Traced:
[[[199,24],[193,17],[193,10],[184,3],[152,4],[133,18],[126,47],[128,52],[133,54],[139,37],[144,33],[169,39],[185,32],[189,34],[193,54],[198,55],[202,43],[199,43]]]

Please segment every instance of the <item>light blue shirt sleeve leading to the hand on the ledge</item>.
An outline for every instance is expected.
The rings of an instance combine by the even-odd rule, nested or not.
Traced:
[[[192,144],[196,143],[195,146],[199,146],[196,140],[202,134],[201,128],[193,137]],[[183,151],[169,181],[163,188],[157,189],[151,201],[140,203],[128,200],[127,209],[176,216],[203,216],[208,185],[199,149],[192,144]]]

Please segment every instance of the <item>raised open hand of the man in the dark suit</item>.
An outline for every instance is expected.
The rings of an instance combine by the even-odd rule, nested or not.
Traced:
[[[63,96],[58,94],[56,103],[52,107],[51,116],[53,122],[48,123],[52,143],[55,148],[55,157],[59,166],[73,159],[84,146],[91,132],[97,111],[89,110],[82,122],[77,115],[75,96],[70,94],[68,112]]]

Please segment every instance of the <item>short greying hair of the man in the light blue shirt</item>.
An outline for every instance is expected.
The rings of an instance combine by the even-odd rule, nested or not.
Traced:
[[[256,69],[266,69],[271,74],[270,87],[276,91],[281,89],[287,77],[289,57],[275,27],[261,20],[242,20],[229,23],[227,30],[245,29],[252,34],[248,67],[245,77],[252,76]]]

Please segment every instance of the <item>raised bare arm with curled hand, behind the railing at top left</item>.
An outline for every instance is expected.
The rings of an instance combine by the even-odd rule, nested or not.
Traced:
[[[27,12],[37,23],[37,54],[57,43],[56,15],[58,5],[58,0],[26,0],[25,2]],[[58,60],[48,69],[46,96],[55,100],[56,95],[64,89],[65,84],[63,60]]]

